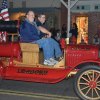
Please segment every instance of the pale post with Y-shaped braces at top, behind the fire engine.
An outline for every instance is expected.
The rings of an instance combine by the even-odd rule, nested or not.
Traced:
[[[67,3],[64,0],[60,0],[60,2],[68,9],[68,14],[67,14],[67,44],[69,44],[69,31],[70,31],[70,12],[71,8],[78,2],[78,0],[74,0],[71,3],[71,0],[68,0]]]

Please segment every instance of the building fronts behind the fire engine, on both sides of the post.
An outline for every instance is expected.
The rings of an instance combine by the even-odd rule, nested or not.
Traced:
[[[67,25],[67,8],[60,0],[8,0],[11,20],[23,19],[25,12],[33,10],[36,14],[46,13],[47,23],[50,28],[61,29]],[[71,4],[75,0],[70,0]],[[64,0],[68,2],[68,0]],[[1,1],[0,1],[1,3]],[[100,24],[100,0],[78,0],[71,8],[71,24],[77,23],[80,43],[82,35],[88,36],[89,43],[93,42]],[[67,26],[66,26],[67,27]],[[82,33],[83,32],[83,33]],[[81,35],[80,35],[81,34]]]

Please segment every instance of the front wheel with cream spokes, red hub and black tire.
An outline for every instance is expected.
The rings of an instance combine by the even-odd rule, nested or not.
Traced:
[[[88,65],[80,69],[74,82],[75,93],[82,100],[100,100],[100,66]]]

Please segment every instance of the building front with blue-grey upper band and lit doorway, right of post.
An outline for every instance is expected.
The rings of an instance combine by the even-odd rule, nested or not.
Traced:
[[[100,0],[79,0],[71,9],[71,23],[76,22],[79,31],[79,41],[88,36],[89,43],[100,30]],[[99,33],[100,34],[100,33]]]

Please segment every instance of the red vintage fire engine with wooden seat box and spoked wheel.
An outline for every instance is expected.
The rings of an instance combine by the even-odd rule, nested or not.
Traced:
[[[64,59],[43,65],[37,44],[0,43],[0,79],[57,83],[74,75],[73,88],[83,100],[100,100],[100,46],[64,45]]]

